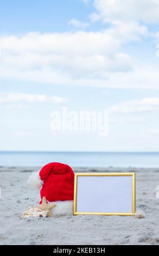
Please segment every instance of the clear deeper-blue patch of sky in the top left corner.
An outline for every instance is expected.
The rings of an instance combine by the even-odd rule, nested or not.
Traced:
[[[3,1],[1,33],[65,32],[72,17],[87,21],[87,16],[94,9],[92,4],[84,4],[80,0]]]

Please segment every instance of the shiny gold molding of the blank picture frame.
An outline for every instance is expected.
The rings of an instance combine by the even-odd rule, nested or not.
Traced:
[[[132,212],[77,212],[77,180],[78,176],[132,176]],[[74,201],[73,201],[73,215],[87,214],[87,215],[120,215],[133,216],[135,215],[136,205],[136,191],[135,191],[135,173],[75,173],[74,174]]]

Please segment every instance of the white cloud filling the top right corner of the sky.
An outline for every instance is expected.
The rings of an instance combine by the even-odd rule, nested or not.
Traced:
[[[107,23],[118,21],[159,22],[158,0],[94,0],[101,19]]]

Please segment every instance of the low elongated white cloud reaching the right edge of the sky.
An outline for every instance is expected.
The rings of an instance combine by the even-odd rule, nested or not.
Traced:
[[[112,106],[113,113],[139,113],[139,112],[159,112],[159,97],[148,97],[141,100],[130,100]]]

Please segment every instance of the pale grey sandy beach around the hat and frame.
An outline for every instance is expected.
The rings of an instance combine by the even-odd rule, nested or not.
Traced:
[[[133,216],[62,216],[20,218],[40,193],[27,185],[33,170],[40,167],[0,167],[1,245],[159,245],[159,169],[73,168],[74,172],[136,172],[136,210]]]

